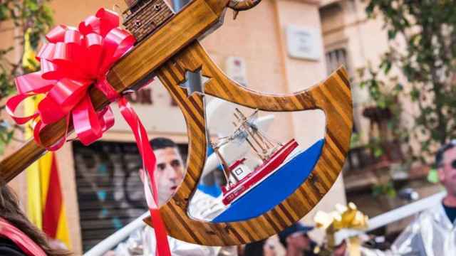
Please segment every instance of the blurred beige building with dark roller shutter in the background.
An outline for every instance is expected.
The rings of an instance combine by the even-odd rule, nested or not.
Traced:
[[[183,6],[185,0],[170,4]],[[72,26],[102,6],[117,11],[125,9],[122,0],[53,0],[51,6],[56,25]],[[386,140],[386,154],[380,157],[366,146],[370,134],[380,130],[372,127],[380,127],[382,119],[369,114],[368,93],[358,86],[356,71],[368,62],[378,63],[380,53],[388,48],[388,40],[381,18],[368,19],[365,7],[361,0],[263,0],[255,9],[239,14],[236,20],[227,13],[224,26],[202,40],[209,55],[229,77],[262,92],[286,93],[309,88],[339,65],[345,65],[351,74],[356,139],[343,176],[306,216],[306,222],[311,222],[316,210],[329,211],[334,204],[346,201],[355,202],[371,216],[406,203],[406,199],[381,193],[373,199],[373,188],[388,177],[393,177],[395,187],[413,188],[420,196],[438,190],[425,181],[424,166],[404,170],[402,145]],[[14,38],[14,31],[2,33],[2,38]],[[11,43],[12,39],[3,40],[0,46]],[[185,121],[158,80],[130,95],[130,100],[150,138],[174,139],[186,153]],[[87,147],[79,142],[67,143],[56,154],[71,246],[76,255],[144,211],[142,186],[134,175],[140,167],[138,151],[133,134],[116,114],[115,127],[100,141]],[[300,144],[310,146],[323,136],[323,112],[281,113],[276,115],[275,122],[281,125],[273,125],[269,134],[279,140],[295,137]],[[12,144],[9,151],[15,146]],[[26,201],[25,175],[11,184]],[[387,229],[390,233],[398,230]]]

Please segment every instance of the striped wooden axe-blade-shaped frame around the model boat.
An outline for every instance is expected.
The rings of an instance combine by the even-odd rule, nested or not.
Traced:
[[[204,92],[246,107],[282,112],[321,109],[326,115],[325,144],[309,178],[272,210],[245,221],[209,223],[190,218],[187,208],[202,174],[206,155],[203,96],[180,87],[186,70],[202,69],[209,78]],[[353,125],[351,88],[343,68],[309,90],[290,95],[265,95],[229,80],[198,42],[182,50],[157,70],[157,76],[178,102],[190,139],[187,174],[175,196],[160,208],[168,233],[201,245],[239,245],[268,238],[300,220],[329,191],[345,161]],[[296,170],[299,171],[299,170]],[[145,220],[151,225],[150,220]]]

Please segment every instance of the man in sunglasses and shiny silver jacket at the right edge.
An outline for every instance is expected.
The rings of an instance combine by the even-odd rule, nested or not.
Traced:
[[[435,166],[447,191],[442,202],[420,213],[390,251],[362,248],[363,255],[456,255],[456,140],[437,151]]]

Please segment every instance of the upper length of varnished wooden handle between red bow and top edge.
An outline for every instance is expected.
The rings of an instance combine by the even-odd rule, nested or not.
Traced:
[[[125,55],[108,73],[108,82],[115,89],[125,89],[158,68],[162,63],[189,45],[214,26],[222,17],[227,1],[195,0],[170,19],[135,50]],[[227,4],[224,4],[226,6]],[[118,83],[121,78],[121,82]]]

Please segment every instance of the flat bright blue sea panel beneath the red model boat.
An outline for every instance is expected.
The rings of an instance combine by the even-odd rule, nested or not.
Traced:
[[[277,206],[306,181],[321,155],[323,144],[324,140],[321,139],[309,149],[296,154],[274,174],[229,205],[212,222],[249,220]]]

